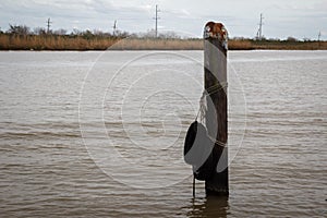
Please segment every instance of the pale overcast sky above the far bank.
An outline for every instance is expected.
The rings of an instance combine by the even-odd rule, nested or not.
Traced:
[[[222,22],[231,37],[255,37],[259,14],[267,38],[327,40],[327,0],[1,0],[0,27],[25,24],[32,29],[73,28],[144,33],[155,27],[155,5],[159,7],[159,32],[174,31],[201,37],[207,21]]]

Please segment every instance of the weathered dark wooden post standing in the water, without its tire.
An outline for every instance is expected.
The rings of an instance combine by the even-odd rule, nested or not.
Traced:
[[[207,195],[228,195],[227,128],[227,31],[221,23],[208,22],[204,29],[204,71],[207,92],[206,126],[215,142],[215,172],[205,181]]]

